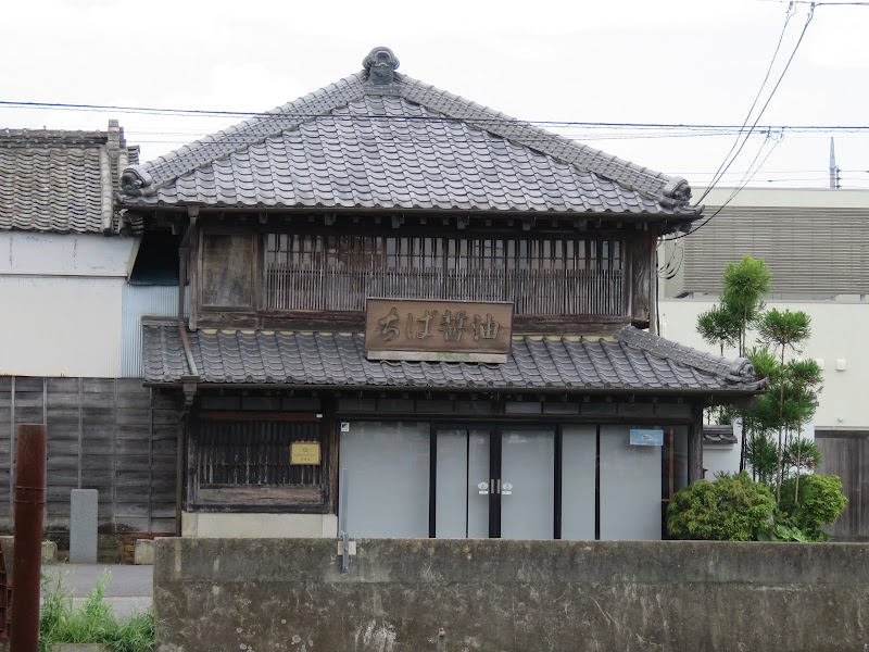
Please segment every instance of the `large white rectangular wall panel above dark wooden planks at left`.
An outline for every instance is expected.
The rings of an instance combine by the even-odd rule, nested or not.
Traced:
[[[124,278],[0,275],[0,375],[121,375]]]

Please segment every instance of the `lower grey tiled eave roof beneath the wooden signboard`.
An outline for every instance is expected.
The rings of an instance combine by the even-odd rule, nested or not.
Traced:
[[[177,324],[144,324],[144,377],[190,375]],[[362,335],[266,330],[188,334],[199,380],[291,386],[754,391],[745,359],[728,361],[627,327],[614,340],[514,337],[503,364],[382,362],[365,358]]]

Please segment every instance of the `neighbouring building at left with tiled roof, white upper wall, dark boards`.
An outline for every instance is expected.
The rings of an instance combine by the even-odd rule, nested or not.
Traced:
[[[0,530],[21,423],[48,425],[48,531],[67,528],[76,488],[100,491],[101,531],[175,530],[176,427],[154,429],[139,334],[144,313],[177,312],[177,273],[159,285],[161,243],[113,205],[137,161],[117,121],[0,130]]]

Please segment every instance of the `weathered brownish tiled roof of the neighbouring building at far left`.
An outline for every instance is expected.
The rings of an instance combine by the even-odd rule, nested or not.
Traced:
[[[108,131],[0,129],[0,230],[118,229],[119,170],[138,162],[116,121]]]

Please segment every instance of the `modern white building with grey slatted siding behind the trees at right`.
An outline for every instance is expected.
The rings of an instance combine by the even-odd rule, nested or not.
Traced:
[[[705,214],[715,214],[731,192],[713,190]],[[820,471],[840,475],[849,498],[836,534],[869,536],[869,190],[742,190],[696,233],[660,248],[660,335],[717,353],[697,334],[697,315],[718,302],[727,263],[746,254],[772,271],[768,308],[811,317],[801,355],[823,368],[823,390],[806,435],[818,439]],[[704,454],[707,469],[739,464],[739,444]]]

